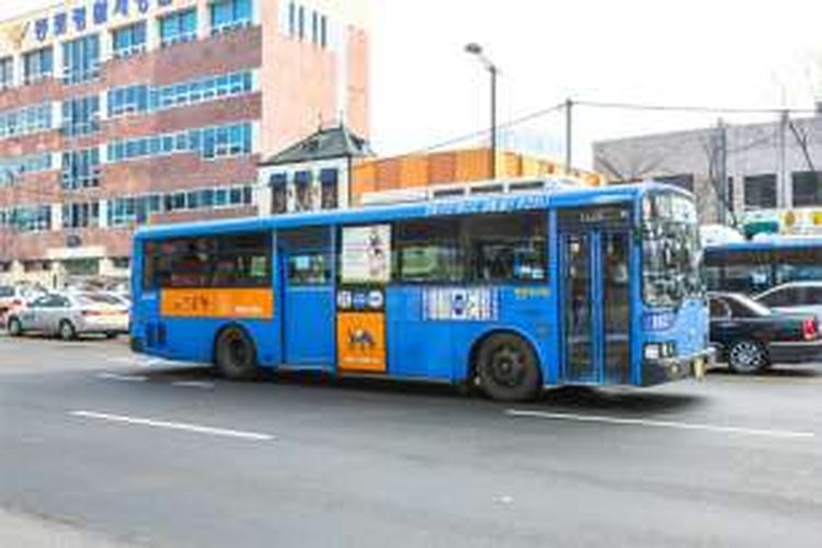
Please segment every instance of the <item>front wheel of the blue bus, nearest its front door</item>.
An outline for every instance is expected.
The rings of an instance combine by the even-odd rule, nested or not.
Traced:
[[[498,401],[533,400],[543,385],[534,349],[513,333],[495,333],[486,339],[476,367],[480,386]]]

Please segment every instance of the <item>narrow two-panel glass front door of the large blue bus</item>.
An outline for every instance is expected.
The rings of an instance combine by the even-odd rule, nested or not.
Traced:
[[[561,231],[562,379],[630,383],[630,232]]]

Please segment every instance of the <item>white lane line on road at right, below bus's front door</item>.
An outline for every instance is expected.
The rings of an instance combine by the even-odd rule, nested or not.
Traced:
[[[550,413],[546,411],[529,411],[523,409],[507,409],[510,416],[525,416],[532,419],[550,419],[555,421],[597,422],[602,424],[617,424],[624,426],[650,426],[657,429],[700,430],[720,434],[741,434],[749,436],[765,436],[780,438],[813,438],[813,432],[791,432],[787,430],[746,429],[740,426],[722,426],[718,424],[698,424],[673,421],[654,421],[648,419],[625,419],[618,416],[602,416],[572,413]]]

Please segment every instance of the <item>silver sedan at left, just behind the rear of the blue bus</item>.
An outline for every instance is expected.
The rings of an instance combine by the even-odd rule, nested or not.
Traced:
[[[128,307],[105,294],[48,294],[13,310],[8,329],[12,336],[34,331],[67,341],[90,333],[116,336],[128,332]]]

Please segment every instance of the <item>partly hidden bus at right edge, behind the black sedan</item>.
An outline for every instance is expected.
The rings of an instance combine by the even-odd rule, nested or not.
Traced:
[[[760,294],[788,282],[822,281],[822,238],[773,237],[705,248],[711,290]]]

